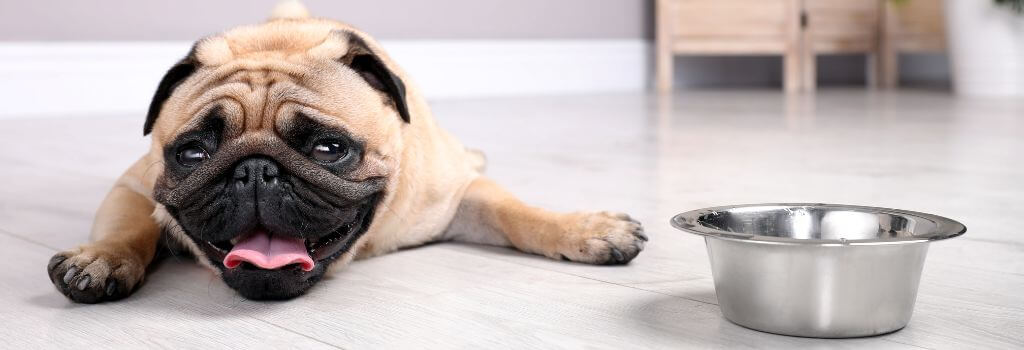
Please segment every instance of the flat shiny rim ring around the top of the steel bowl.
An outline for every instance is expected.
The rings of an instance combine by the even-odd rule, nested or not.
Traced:
[[[907,237],[867,238],[867,239],[825,239],[825,238],[803,239],[803,238],[779,237],[779,236],[760,235],[760,234],[742,233],[742,232],[729,232],[717,228],[711,228],[697,223],[698,222],[697,219],[707,214],[712,214],[714,212],[720,212],[720,211],[728,211],[737,208],[753,208],[753,207],[804,207],[804,208],[813,207],[813,208],[846,209],[852,211],[869,212],[878,214],[890,214],[890,215],[895,214],[895,215],[909,216],[919,219],[930,220],[932,222],[935,222],[937,227],[934,232],[931,232],[929,234],[913,235]],[[967,226],[965,226],[963,223],[959,223],[958,221],[953,219],[949,219],[934,214],[913,212],[902,209],[822,204],[822,203],[761,203],[761,204],[742,204],[742,205],[731,205],[731,206],[708,207],[677,214],[676,216],[672,217],[670,223],[675,228],[693,234],[702,235],[706,237],[748,242],[756,244],[787,245],[787,246],[831,247],[831,246],[905,245],[905,244],[927,243],[933,240],[948,239],[962,235],[965,232],[967,232]]]

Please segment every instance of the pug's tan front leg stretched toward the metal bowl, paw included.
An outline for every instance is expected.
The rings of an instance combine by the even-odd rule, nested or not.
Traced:
[[[512,246],[553,259],[625,264],[643,250],[647,236],[626,214],[554,213],[530,207],[490,179],[466,189],[445,238]]]

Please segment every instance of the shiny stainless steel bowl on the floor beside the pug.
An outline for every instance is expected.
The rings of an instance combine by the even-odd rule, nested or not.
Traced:
[[[967,231],[931,214],[824,204],[707,208],[672,225],[705,236],[725,318],[815,338],[905,326],[928,243]]]

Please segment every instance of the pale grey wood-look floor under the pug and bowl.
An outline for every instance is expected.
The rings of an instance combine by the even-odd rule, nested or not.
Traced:
[[[824,91],[501,98],[434,104],[526,201],[634,214],[622,267],[439,244],[356,262],[289,302],[252,302],[171,259],[127,300],[74,305],[44,273],[85,239],[147,146],[139,116],[0,121],[5,348],[1024,348],[1024,102]],[[668,224],[714,205],[825,202],[958,219],[932,246],[910,324],[815,340],[722,318],[703,242]]]

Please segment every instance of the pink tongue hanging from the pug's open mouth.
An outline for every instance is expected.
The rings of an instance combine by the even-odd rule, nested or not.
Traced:
[[[227,268],[239,267],[243,262],[268,270],[300,264],[303,271],[312,271],[314,264],[302,238],[270,235],[262,230],[242,238],[224,257]]]

